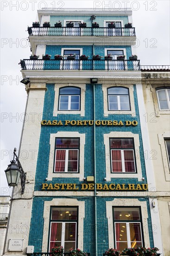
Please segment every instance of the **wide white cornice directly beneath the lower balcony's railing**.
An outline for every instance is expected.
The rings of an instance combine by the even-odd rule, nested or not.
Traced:
[[[128,70],[21,70],[23,77],[29,77],[31,82],[66,82],[83,81],[89,83],[92,77],[98,78],[98,83],[139,83],[141,71]]]

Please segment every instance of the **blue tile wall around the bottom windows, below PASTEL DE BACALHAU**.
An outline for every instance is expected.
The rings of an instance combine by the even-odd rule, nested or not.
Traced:
[[[44,202],[52,201],[55,198],[54,196],[36,196],[33,199],[32,205],[32,215],[31,215],[31,225],[30,225],[30,233],[29,233],[29,243],[28,245],[34,246],[34,252],[42,252],[42,243],[43,243],[43,235],[47,232],[48,227],[44,227]],[[71,198],[71,196],[58,196],[58,198]],[[91,256],[95,255],[95,241],[94,241],[94,197],[76,197],[78,201],[85,202],[85,217],[84,217],[84,225],[83,225],[83,250],[86,252],[90,252]],[[102,254],[109,248],[108,244],[108,232],[109,234],[113,234],[112,227],[108,229],[107,222],[107,213],[106,213],[106,202],[113,201],[114,196],[110,197],[97,197],[97,248],[98,248],[98,256],[102,256]],[[120,199],[124,198],[122,196]],[[129,197],[127,197],[129,198]],[[135,197],[131,197],[133,199]],[[153,243],[153,235],[152,235],[152,223],[151,223],[151,213],[149,207],[149,199],[148,198],[138,198],[139,201],[145,201],[147,203],[147,211],[148,211],[148,230],[150,237],[150,246],[154,247]],[[51,203],[51,206],[52,203]],[[62,205],[61,205],[62,206]],[[73,205],[74,206],[74,205]],[[113,216],[110,216],[111,218]],[[50,216],[49,216],[50,223]],[[78,227],[78,232],[82,232],[82,227]],[[144,227],[145,229],[146,227]],[[38,237],[38,239],[37,239]],[[48,236],[49,239],[49,236]],[[48,248],[46,248],[46,251]]]

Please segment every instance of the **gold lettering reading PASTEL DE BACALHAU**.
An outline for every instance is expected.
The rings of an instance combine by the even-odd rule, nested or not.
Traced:
[[[80,185],[76,183],[43,183],[42,184],[42,190],[89,190],[93,191],[94,190],[94,183],[82,183]],[[115,184],[115,183],[110,183],[110,184],[101,184],[97,183],[96,184],[96,190],[98,191],[111,191],[111,190],[127,190],[127,191],[132,191],[132,190],[148,190],[148,184]]]

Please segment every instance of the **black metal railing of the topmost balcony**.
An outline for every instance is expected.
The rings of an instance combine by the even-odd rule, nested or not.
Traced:
[[[136,36],[135,27],[28,27],[34,36]]]

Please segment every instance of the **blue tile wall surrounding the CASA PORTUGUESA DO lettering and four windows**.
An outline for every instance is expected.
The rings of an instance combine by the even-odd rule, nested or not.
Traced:
[[[47,91],[45,92],[44,99],[44,111],[43,111],[43,120],[94,120],[93,114],[93,86],[91,84],[86,85],[85,92],[85,116],[73,115],[73,114],[60,114],[57,117],[53,116],[53,107],[54,107],[54,84],[47,84]],[[104,137],[103,134],[110,133],[111,131],[118,132],[132,132],[133,134],[139,134],[140,142],[140,152],[139,157],[141,160],[142,167],[142,176],[145,177],[145,182],[139,182],[137,179],[126,178],[114,179],[114,182],[118,183],[146,183],[146,174],[145,174],[145,161],[144,161],[144,152],[142,146],[142,136],[140,128],[140,119],[139,119],[139,109],[137,101],[137,92],[136,86],[134,85],[134,99],[135,99],[135,112],[136,117],[132,115],[116,115],[116,120],[121,121],[138,121],[138,126],[96,126],[96,181],[97,183],[103,182],[106,177],[106,159],[105,159],[105,146],[104,146]],[[96,102],[96,120],[115,120],[115,115],[109,115],[104,117],[103,110],[103,93],[102,85],[97,84],[95,86],[95,102]],[[41,190],[41,184],[45,182],[45,178],[48,176],[48,166],[49,166],[49,155],[50,155],[50,134],[56,134],[58,131],[66,132],[79,132],[86,135],[85,148],[84,148],[84,175],[93,176],[94,175],[94,128],[93,126],[42,126],[40,141],[39,141],[39,150],[38,150],[38,161],[36,168],[36,180],[35,180],[35,189]],[[77,183],[80,184],[78,178],[60,178],[60,183]],[[49,181],[50,182],[50,181]],[[53,182],[58,182],[58,178],[53,178]],[[113,183],[114,183],[113,182]]]

